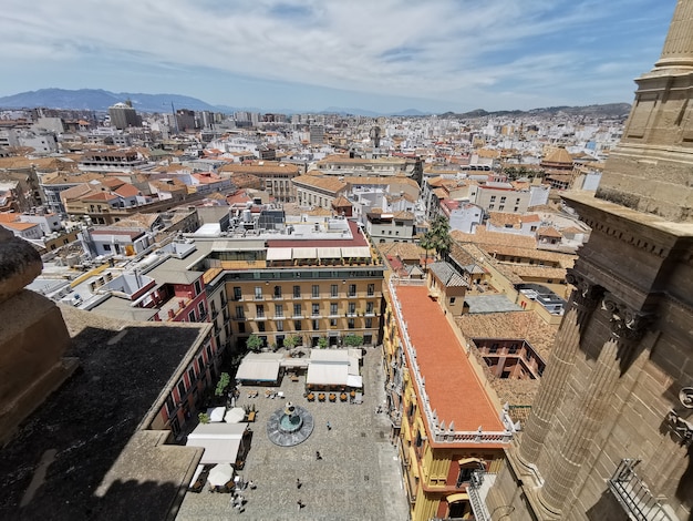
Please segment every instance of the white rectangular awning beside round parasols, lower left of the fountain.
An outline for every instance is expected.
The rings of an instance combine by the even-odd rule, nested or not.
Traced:
[[[188,435],[186,446],[205,449],[201,464],[236,462],[247,423],[200,423]]]

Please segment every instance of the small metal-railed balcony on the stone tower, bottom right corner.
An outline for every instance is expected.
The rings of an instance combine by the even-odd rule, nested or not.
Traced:
[[[609,489],[634,521],[679,521],[668,505],[660,503],[635,473],[640,460],[624,459],[609,479]]]

